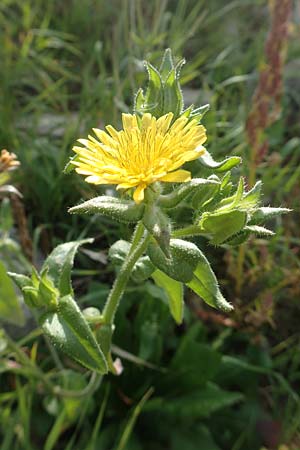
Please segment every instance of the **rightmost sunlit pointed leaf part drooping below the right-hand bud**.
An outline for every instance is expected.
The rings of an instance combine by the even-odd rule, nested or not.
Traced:
[[[187,286],[213,308],[226,312],[231,311],[233,306],[223,297],[217,278],[208,260],[200,250],[199,252],[201,257],[199,257],[197,267],[194,270],[194,277],[190,282],[186,283]]]

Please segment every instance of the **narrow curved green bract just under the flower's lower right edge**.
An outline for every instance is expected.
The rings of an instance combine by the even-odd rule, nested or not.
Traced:
[[[178,206],[190,194],[201,195],[206,188],[218,189],[220,183],[215,179],[193,178],[187,183],[179,185],[173,192],[167,195],[161,195],[158,204],[162,208],[171,209]]]

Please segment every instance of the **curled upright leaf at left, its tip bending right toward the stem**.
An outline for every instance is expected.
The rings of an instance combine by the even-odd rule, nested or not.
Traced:
[[[45,260],[41,272],[47,271],[47,277],[53,281],[62,297],[73,292],[71,270],[78,247],[91,242],[93,239],[82,239],[58,245]]]

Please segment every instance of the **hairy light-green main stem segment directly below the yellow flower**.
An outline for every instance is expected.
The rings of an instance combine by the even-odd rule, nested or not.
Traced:
[[[140,222],[135,229],[129,253],[123,263],[123,266],[121,267],[104,306],[103,321],[107,325],[113,324],[116,310],[126,288],[131,271],[139,257],[142,256],[143,252],[147,248],[150,235],[147,232],[144,234],[144,231],[144,225]]]

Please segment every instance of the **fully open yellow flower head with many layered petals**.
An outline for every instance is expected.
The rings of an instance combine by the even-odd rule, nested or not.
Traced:
[[[144,114],[140,124],[136,115],[123,114],[123,130],[111,125],[106,131],[93,129],[98,139],[79,139],[78,158],[72,161],[76,172],[92,184],[117,184],[117,189],[136,188],[134,201],[144,199],[144,190],[155,181],[185,182],[190,172],[176,170],[205,152],[205,128],[196,120],[180,117],[172,125],[173,113],[159,119]]]

